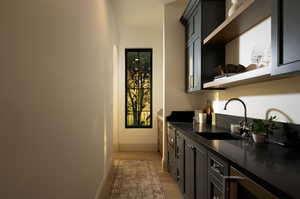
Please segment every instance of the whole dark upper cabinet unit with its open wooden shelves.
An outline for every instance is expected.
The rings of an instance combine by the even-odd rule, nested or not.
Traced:
[[[181,18],[186,30],[188,92],[224,89],[300,74],[300,28],[297,24],[300,21],[300,1],[244,0],[234,14],[227,18],[225,2],[190,0]],[[217,66],[225,65],[225,56],[232,57],[225,54],[232,52],[225,52],[225,46],[270,16],[272,61],[269,60],[270,55],[266,54],[267,64],[261,65],[264,67],[255,67],[256,63],[251,62],[251,67],[247,65],[246,70],[241,70],[244,72],[224,72],[222,68],[223,73],[220,70],[216,72]],[[249,52],[249,59],[253,51]],[[267,48],[263,51],[270,52]],[[257,65],[259,63],[257,61]]]

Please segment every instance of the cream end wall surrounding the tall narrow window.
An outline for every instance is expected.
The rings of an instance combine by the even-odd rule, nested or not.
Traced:
[[[157,111],[162,108],[162,2],[115,0],[120,30],[118,68],[118,142],[121,151],[157,151]],[[125,49],[153,49],[153,128],[125,128]]]

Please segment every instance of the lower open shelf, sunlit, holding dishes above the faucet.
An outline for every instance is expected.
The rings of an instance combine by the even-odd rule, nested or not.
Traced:
[[[242,84],[267,80],[271,74],[271,67],[263,67],[255,70],[239,73],[230,77],[222,77],[203,84],[204,88],[227,88]]]

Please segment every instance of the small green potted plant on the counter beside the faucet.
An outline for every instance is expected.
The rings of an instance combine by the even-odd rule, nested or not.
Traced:
[[[255,143],[264,143],[268,136],[273,134],[273,131],[277,128],[274,123],[276,118],[276,116],[271,116],[268,120],[253,120],[251,131]]]

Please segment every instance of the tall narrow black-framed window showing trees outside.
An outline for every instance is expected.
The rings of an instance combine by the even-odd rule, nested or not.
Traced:
[[[126,49],[126,128],[152,128],[152,49]]]

